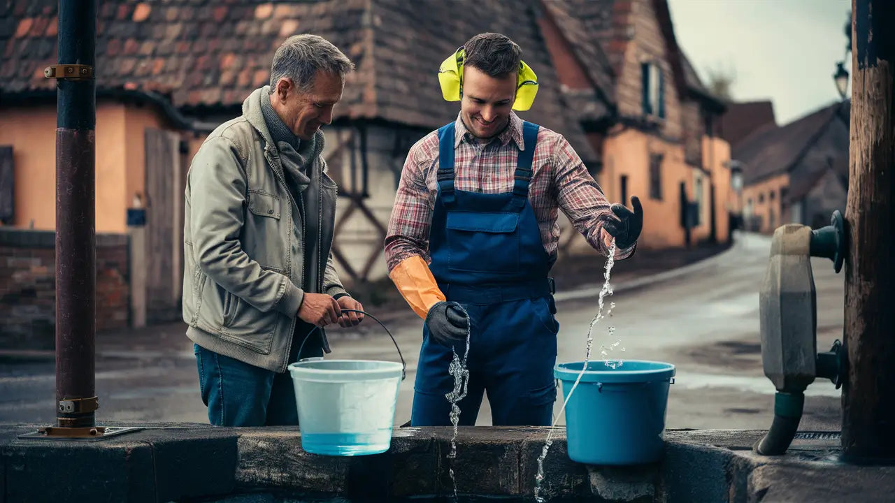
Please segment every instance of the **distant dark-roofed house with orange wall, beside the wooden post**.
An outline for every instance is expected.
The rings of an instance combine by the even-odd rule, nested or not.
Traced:
[[[817,228],[830,224],[833,210],[845,212],[850,113],[850,102],[842,101],[783,126],[767,124],[735,145],[746,229]]]

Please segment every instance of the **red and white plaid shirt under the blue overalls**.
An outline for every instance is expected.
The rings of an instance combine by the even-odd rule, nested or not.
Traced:
[[[454,140],[456,190],[511,192],[516,158],[519,150],[524,148],[522,119],[515,113],[510,114],[507,129],[487,144],[476,139],[457,115]],[[435,131],[413,145],[401,173],[385,242],[389,271],[413,255],[430,261],[429,226],[439,193],[438,166],[439,136]],[[568,141],[561,134],[541,127],[532,169],[528,200],[541,230],[544,250],[551,257],[557,253],[557,217],[558,209],[562,209],[575,230],[584,235],[593,248],[608,254],[612,237],[602,230],[601,217],[611,215],[609,201]],[[634,249],[635,245],[617,250],[616,258],[625,259]]]

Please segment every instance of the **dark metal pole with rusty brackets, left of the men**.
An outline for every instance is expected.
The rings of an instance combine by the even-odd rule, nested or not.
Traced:
[[[97,0],[59,0],[56,120],[56,424],[95,425]],[[47,76],[50,76],[47,69]]]

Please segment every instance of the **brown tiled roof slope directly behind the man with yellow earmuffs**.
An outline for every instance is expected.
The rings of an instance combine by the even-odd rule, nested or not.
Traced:
[[[532,109],[519,115],[565,135],[585,159],[596,159],[574,110],[559,90],[550,53],[535,19],[535,3],[406,2],[376,0],[376,109],[379,116],[405,124],[439,126],[456,116],[457,103],[441,98],[436,72],[447,55],[477,33],[494,31],[513,38],[523,59],[538,74],[540,87]]]

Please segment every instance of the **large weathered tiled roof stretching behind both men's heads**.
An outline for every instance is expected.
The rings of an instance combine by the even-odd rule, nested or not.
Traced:
[[[0,18],[0,93],[52,91],[43,70],[55,64],[56,0],[11,0]],[[153,90],[175,107],[239,105],[268,82],[283,39],[310,32],[327,38],[356,64],[345,82],[339,116],[434,128],[456,116],[441,98],[441,61],[476,33],[497,31],[523,47],[541,88],[524,119],[564,134],[595,159],[559,90],[535,21],[534,0],[99,0],[99,89]]]

